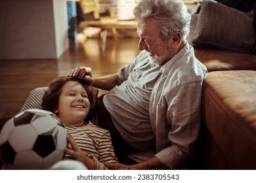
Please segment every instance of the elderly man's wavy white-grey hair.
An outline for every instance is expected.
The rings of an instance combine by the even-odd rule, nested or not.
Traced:
[[[163,41],[175,32],[181,33],[182,40],[188,35],[191,15],[181,0],[139,0],[133,14],[139,22],[153,18]]]

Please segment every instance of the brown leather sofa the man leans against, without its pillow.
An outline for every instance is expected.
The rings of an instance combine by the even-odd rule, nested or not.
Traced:
[[[195,53],[209,71],[196,169],[256,169],[256,54]]]

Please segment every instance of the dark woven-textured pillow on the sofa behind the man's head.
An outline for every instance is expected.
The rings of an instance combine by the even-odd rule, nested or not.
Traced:
[[[253,10],[242,12],[215,1],[202,1],[196,29],[190,37],[192,45],[238,52],[254,52],[253,17]]]

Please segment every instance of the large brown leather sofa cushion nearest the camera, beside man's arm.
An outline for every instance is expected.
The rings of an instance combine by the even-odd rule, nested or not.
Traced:
[[[255,78],[256,71],[215,71],[203,82],[202,121],[228,169],[256,169]]]

